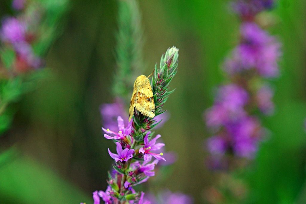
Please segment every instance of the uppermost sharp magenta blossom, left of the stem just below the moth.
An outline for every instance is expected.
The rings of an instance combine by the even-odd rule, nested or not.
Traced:
[[[126,128],[124,127],[124,121],[120,116],[118,116],[117,121],[118,121],[119,132],[114,132],[114,131],[111,131],[109,128],[105,129],[102,127],[102,130],[104,132],[114,135],[114,136],[110,136],[110,135],[104,134],[104,137],[106,139],[124,139],[127,135],[129,135],[132,132],[132,120],[128,123],[128,126]]]

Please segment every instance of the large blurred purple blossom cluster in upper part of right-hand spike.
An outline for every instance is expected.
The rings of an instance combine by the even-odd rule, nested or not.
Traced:
[[[281,44],[255,23],[241,25],[242,42],[237,46],[224,64],[226,72],[256,69],[263,77],[278,76],[278,60],[282,55]]]

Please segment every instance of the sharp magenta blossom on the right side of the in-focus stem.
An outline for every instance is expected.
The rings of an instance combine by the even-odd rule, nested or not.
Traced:
[[[166,161],[165,158],[162,157],[163,153],[157,154],[157,153],[153,153],[151,151],[155,151],[155,150],[159,150],[160,148],[162,148],[163,146],[165,146],[164,143],[156,143],[156,140],[159,139],[161,137],[161,135],[156,135],[156,137],[154,139],[151,139],[151,141],[149,141],[148,136],[151,132],[147,132],[146,136],[144,137],[144,147],[141,147],[139,149],[139,153],[144,154],[144,161],[148,162],[150,161],[150,159],[153,157],[155,157],[158,160],[164,160]]]

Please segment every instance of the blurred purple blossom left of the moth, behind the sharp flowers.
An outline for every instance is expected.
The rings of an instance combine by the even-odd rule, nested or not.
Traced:
[[[122,116],[127,125],[128,115],[124,109],[124,103],[120,98],[116,98],[114,103],[105,103],[100,106],[100,113],[102,117],[102,123],[104,127],[118,132],[117,117]]]

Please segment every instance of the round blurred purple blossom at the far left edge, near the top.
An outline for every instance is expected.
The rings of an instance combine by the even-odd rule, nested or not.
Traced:
[[[18,43],[25,40],[26,25],[14,17],[3,20],[1,38],[9,43]]]

